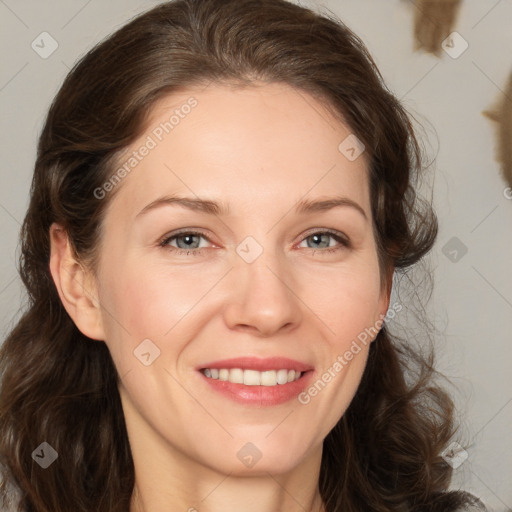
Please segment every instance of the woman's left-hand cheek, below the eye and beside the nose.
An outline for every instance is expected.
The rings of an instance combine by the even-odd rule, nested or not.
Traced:
[[[133,364],[133,351],[143,340],[152,340],[167,353],[175,327],[186,339],[184,329],[201,310],[201,298],[218,277],[192,267],[173,269],[136,259],[126,259],[121,265],[113,261],[105,261],[102,267],[99,298],[105,341],[118,366],[126,368]],[[181,322],[185,318],[188,322]],[[172,338],[171,357],[181,348],[179,339]]]

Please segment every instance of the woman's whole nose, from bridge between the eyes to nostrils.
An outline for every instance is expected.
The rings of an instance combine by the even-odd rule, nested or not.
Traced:
[[[293,293],[293,271],[283,255],[252,237],[243,240],[236,252],[234,285],[226,308],[230,327],[250,326],[269,336],[297,324],[300,308]]]

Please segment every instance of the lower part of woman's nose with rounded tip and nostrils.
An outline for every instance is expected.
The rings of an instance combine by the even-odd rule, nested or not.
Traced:
[[[224,316],[229,328],[269,337],[299,325],[302,301],[292,268],[267,251],[252,263],[239,259],[227,286],[231,291]]]

